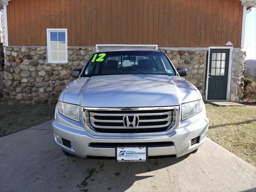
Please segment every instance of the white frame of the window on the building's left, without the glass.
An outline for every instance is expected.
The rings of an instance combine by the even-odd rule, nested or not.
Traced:
[[[51,50],[50,50],[50,32],[65,32],[65,48],[66,48],[66,60],[65,61],[52,61],[51,60]],[[46,29],[47,36],[47,54],[48,63],[67,63],[68,62],[68,29]]]

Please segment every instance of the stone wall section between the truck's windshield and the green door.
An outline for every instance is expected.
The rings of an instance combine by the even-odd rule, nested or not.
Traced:
[[[205,68],[207,50],[198,48],[186,48],[184,50],[172,50],[171,48],[159,48],[172,61],[175,68],[186,67],[188,75],[186,80],[194,84],[204,96]]]

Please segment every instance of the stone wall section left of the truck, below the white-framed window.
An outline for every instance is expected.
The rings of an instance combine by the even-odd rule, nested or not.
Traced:
[[[68,63],[56,64],[47,62],[47,47],[6,47],[2,101],[56,103],[74,80],[71,71],[82,68],[93,52],[95,47],[69,47]]]

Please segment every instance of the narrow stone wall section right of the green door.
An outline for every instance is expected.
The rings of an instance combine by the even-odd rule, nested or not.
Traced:
[[[230,101],[242,103],[244,97],[244,74],[246,52],[240,48],[233,48],[232,73],[230,80]]]

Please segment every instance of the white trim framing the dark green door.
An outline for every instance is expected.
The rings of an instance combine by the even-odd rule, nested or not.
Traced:
[[[211,49],[229,49],[229,58],[228,58],[228,82],[227,82],[227,93],[226,93],[226,101],[229,101],[230,97],[230,80],[231,80],[231,68],[232,68],[232,52],[233,47],[209,47],[208,48],[208,65],[207,65],[207,72],[206,72],[206,89],[205,89],[205,100],[208,100],[208,80],[209,80],[209,67],[210,67],[210,50]]]

